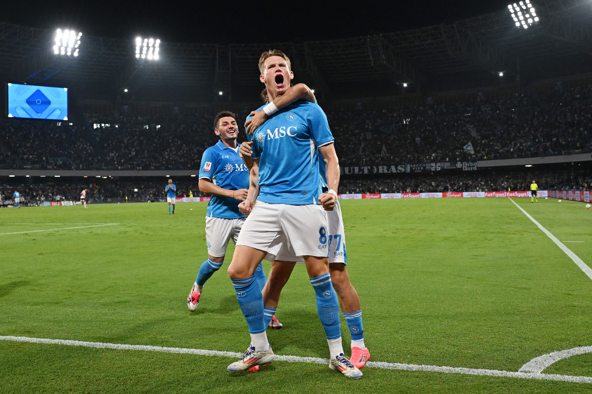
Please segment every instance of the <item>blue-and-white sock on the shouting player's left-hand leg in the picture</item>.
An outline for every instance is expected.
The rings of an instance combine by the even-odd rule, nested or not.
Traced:
[[[263,295],[255,281],[255,275],[245,279],[232,279],[236,299],[239,301],[240,310],[249,325],[251,343],[256,350],[268,350],[269,342],[263,323]]]

